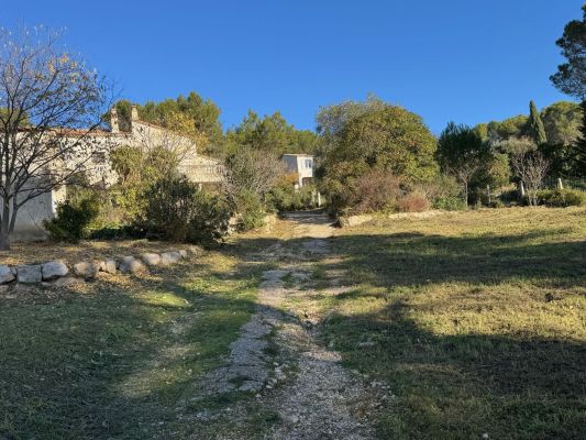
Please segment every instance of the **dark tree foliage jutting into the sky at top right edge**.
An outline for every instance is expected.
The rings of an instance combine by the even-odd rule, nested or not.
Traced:
[[[582,20],[573,20],[564,28],[556,44],[562,48],[566,63],[557,66],[551,80],[566,95],[586,99],[586,4],[582,7]]]

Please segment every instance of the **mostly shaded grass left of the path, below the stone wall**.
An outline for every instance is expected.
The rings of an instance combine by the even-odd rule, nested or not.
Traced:
[[[142,278],[3,294],[0,438],[207,436],[198,380],[254,311],[257,278],[239,263],[212,252]]]

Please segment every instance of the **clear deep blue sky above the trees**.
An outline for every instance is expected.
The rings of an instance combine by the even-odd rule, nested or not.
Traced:
[[[4,26],[67,28],[66,42],[133,101],[195,90],[224,127],[248,108],[313,129],[320,106],[374,92],[434,133],[561,99],[554,42],[582,0],[7,2]]]

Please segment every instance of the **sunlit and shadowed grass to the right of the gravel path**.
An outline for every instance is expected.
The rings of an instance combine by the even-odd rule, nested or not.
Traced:
[[[383,438],[583,439],[586,210],[383,220],[331,240],[324,343],[387,382]]]

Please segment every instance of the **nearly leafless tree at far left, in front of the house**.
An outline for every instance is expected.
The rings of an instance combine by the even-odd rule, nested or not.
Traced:
[[[19,209],[87,169],[109,88],[45,28],[0,30],[0,249]]]

